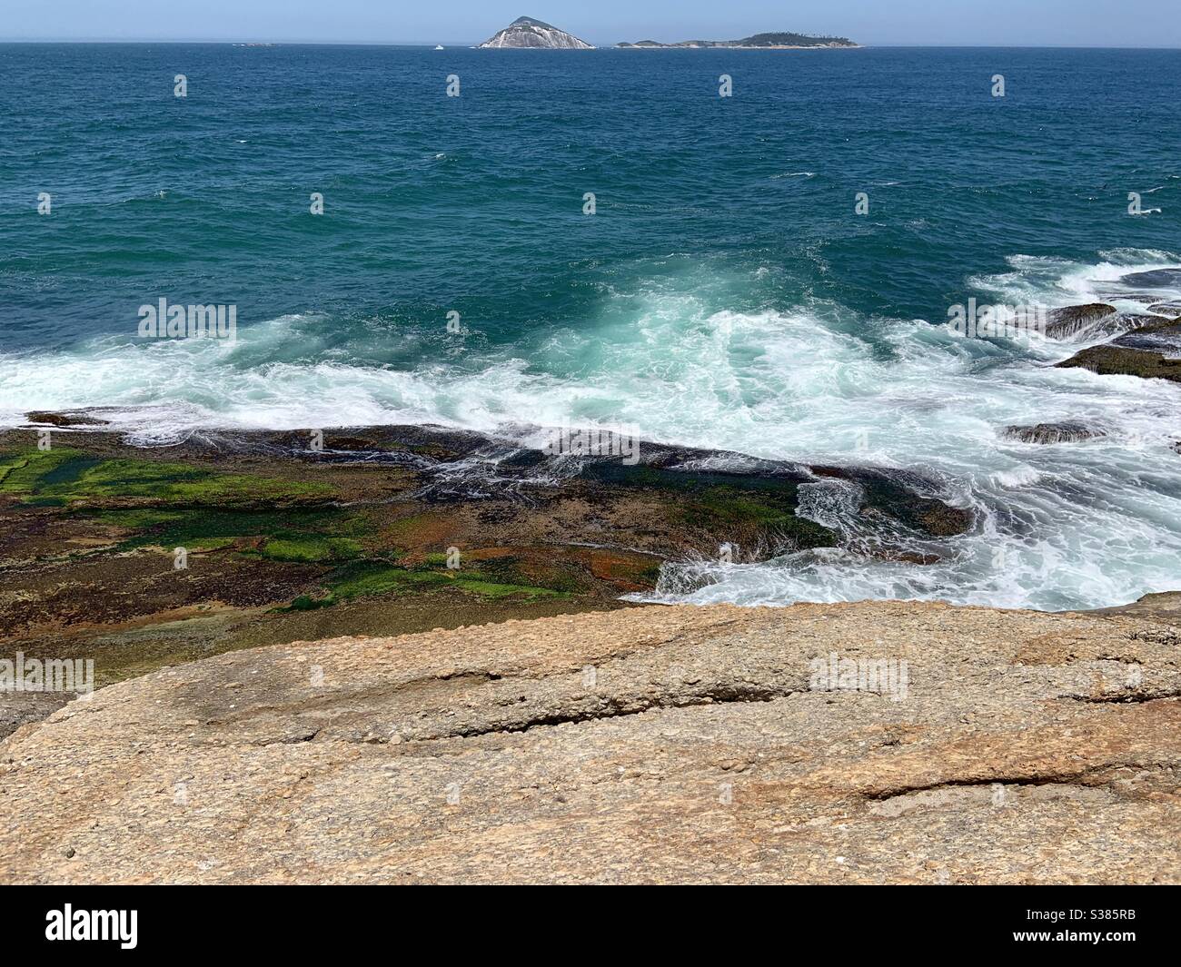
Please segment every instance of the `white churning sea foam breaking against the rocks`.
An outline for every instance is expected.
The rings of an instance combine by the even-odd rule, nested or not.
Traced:
[[[1070,305],[1098,301],[1125,273],[1181,264],[1143,250],[1103,260],[1019,256],[1011,272],[974,281],[1006,302]],[[861,322],[822,302],[711,312],[692,295],[653,293],[593,333],[552,334],[530,361],[484,348],[482,365],[439,352],[407,371],[357,365],[315,344],[307,319],[285,316],[241,328],[236,345],[100,341],[0,358],[0,423],[19,424],[28,410],[104,406],[148,444],[195,427],[627,425],[646,439],[755,458],[913,470],[976,511],[971,534],[924,548],[938,563],[872,558],[854,541],[758,564],[668,567],[647,600],[908,597],[1053,609],[1181,587],[1181,457],[1172,450],[1181,387],[1052,368],[1077,347],[1050,340],[1014,349],[920,320],[872,331]],[[373,334],[374,352],[383,339],[405,337]],[[1107,435],[1035,445],[1000,432],[1058,420]],[[803,496],[814,520],[846,535],[866,530],[848,492]]]

